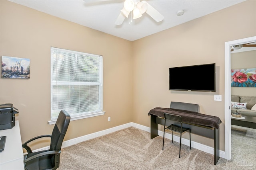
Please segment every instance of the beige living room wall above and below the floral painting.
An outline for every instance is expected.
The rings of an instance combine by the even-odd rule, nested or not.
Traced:
[[[252,47],[246,47],[252,48]],[[256,68],[256,50],[232,53],[230,57],[231,69]],[[256,96],[255,87],[231,87],[232,95]]]

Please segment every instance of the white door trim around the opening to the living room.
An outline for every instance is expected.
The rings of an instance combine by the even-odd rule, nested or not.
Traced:
[[[224,156],[224,158],[226,158],[227,160],[231,159],[230,46],[231,45],[241,45],[244,43],[252,43],[255,41],[256,41],[256,36],[225,42],[225,156]]]

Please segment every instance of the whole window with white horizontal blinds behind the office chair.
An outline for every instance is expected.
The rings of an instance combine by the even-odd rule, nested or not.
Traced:
[[[72,119],[102,115],[102,56],[51,48],[51,122],[61,110]]]

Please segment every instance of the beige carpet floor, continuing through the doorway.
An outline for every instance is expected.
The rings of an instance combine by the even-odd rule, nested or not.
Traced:
[[[256,169],[256,138],[246,131],[232,130],[232,160],[129,127],[62,149],[59,170],[249,170]],[[246,144],[248,143],[248,144]],[[233,145],[239,147],[233,147]],[[236,148],[236,149],[233,149]],[[234,154],[235,153],[235,154]]]

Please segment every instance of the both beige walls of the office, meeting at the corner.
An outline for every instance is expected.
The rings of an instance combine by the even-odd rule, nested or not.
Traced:
[[[51,133],[50,47],[103,55],[106,114],[71,121],[64,140],[131,121],[150,127],[150,109],[178,101],[220,117],[220,149],[225,150],[224,43],[256,35],[255,7],[249,0],[130,42],[1,0],[0,55],[29,58],[30,79],[0,78],[0,103],[19,109],[22,142]],[[169,67],[205,63],[216,63],[216,92],[168,90]],[[222,95],[222,102],[214,101],[214,94]],[[192,140],[213,147],[211,139],[192,135]]]

